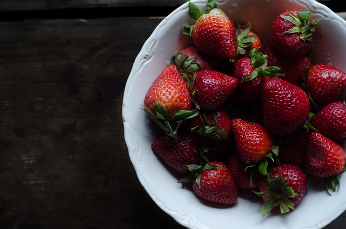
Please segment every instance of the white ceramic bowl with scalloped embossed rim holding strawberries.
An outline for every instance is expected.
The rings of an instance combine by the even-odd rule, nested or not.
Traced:
[[[191,0],[204,9],[207,0]],[[252,31],[263,46],[269,27],[281,12],[310,10],[310,19],[320,19],[314,35],[312,62],[334,65],[346,72],[346,22],[332,10],[315,0],[216,0],[236,24],[250,22]],[[143,188],[155,203],[178,223],[190,229],[320,229],[346,209],[346,175],[340,191],[329,196],[321,180],[309,180],[307,192],[294,211],[287,214],[260,216],[262,202],[240,193],[231,207],[215,207],[196,197],[192,190],[182,189],[171,170],[151,151],[156,126],[149,121],[141,105],[146,91],[172,55],[191,44],[191,38],[181,34],[183,24],[194,21],[188,14],[188,3],[168,15],[153,31],[136,57],[128,78],[123,100],[125,141],[130,160]],[[334,34],[334,35],[332,35]],[[342,45],[340,45],[342,44]],[[345,146],[344,146],[345,149]],[[323,184],[322,184],[323,183]]]

